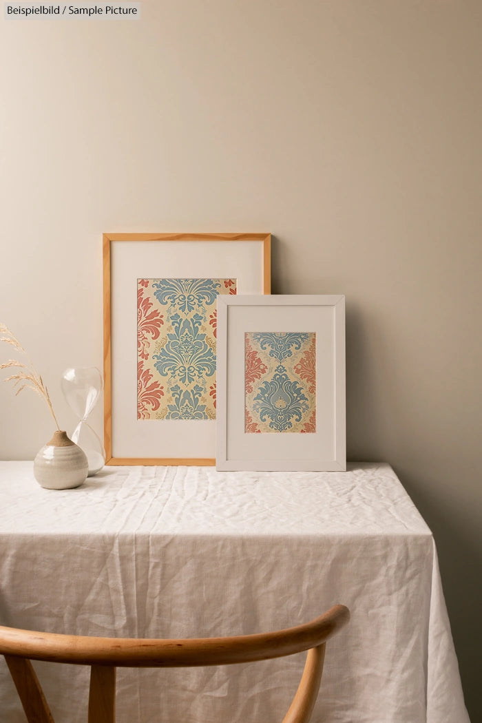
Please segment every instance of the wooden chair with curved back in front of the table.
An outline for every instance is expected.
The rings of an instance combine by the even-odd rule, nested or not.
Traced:
[[[230,638],[95,638],[0,626],[5,656],[28,723],[54,723],[31,660],[90,665],[88,723],[115,723],[116,667],[192,667],[279,658],[308,651],[298,690],[283,723],[308,723],[317,700],[328,638],[350,619],[335,605],[287,630]]]

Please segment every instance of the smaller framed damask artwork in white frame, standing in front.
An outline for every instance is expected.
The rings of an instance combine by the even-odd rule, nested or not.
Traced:
[[[218,296],[216,468],[346,469],[345,296]]]

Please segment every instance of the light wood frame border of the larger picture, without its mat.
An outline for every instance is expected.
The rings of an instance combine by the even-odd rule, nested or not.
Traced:
[[[103,234],[104,449],[106,465],[215,466],[215,458],[134,458],[112,456],[111,241],[262,241],[263,294],[271,294],[271,234]]]

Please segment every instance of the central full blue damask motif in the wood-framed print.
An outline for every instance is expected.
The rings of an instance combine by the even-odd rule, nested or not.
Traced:
[[[168,343],[159,354],[152,355],[159,374],[171,376],[184,385],[214,374],[215,353],[205,341],[206,335],[199,333],[202,316],[195,314],[192,319],[183,320],[173,314],[171,322],[174,333],[168,334]]]

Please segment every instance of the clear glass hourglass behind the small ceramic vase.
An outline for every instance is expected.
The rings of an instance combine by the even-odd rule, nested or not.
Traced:
[[[71,435],[72,442],[79,445],[87,455],[88,476],[92,476],[103,468],[106,461],[102,442],[87,423],[87,417],[98,402],[103,388],[102,375],[97,367],[66,369],[62,375],[61,388],[69,407],[79,418],[79,424]]]

